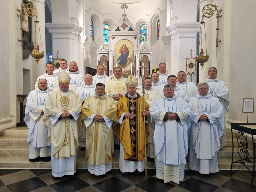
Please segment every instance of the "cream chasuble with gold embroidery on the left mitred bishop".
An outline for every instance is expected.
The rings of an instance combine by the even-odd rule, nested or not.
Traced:
[[[78,130],[77,121],[74,118],[61,118],[53,125],[51,125],[50,118],[56,118],[57,113],[66,111],[81,112],[81,108],[81,99],[72,90],[68,90],[68,94],[61,94],[58,89],[47,98],[43,121],[46,122],[48,128],[48,141],[51,142],[54,157],[74,156],[78,148],[78,138],[82,132]]]

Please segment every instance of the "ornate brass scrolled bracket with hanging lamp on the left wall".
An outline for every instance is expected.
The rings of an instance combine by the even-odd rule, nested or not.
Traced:
[[[35,58],[36,60],[36,65],[38,65],[38,61],[40,60],[40,58],[43,58],[43,56],[45,55],[45,52],[42,51],[42,53],[39,52],[39,45],[36,45],[36,25],[38,25],[39,27],[39,36],[40,36],[40,42],[41,42],[41,47],[42,47],[42,39],[41,39],[41,33],[40,33],[40,26],[39,26],[39,21],[38,21],[38,15],[36,12],[36,7],[31,4],[31,3],[27,3],[27,4],[21,4],[21,10],[17,9],[17,11],[19,12],[19,15],[17,15],[20,18],[21,21],[21,27],[19,28],[21,30],[21,39],[18,39],[19,42],[21,42],[21,47],[23,46],[23,35],[22,35],[22,31],[24,28],[26,28],[26,21],[28,20],[28,17],[36,17],[35,20],[35,42],[34,42],[34,49],[32,50],[31,56]],[[43,47],[42,47],[43,49]]]

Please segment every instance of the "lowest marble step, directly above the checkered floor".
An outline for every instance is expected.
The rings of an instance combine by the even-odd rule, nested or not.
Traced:
[[[234,158],[234,161],[238,158]],[[253,163],[247,163],[246,166],[250,170],[253,169]],[[119,156],[112,156],[113,169],[119,168]],[[154,161],[147,160],[148,169],[155,168]],[[230,170],[231,158],[218,158],[219,170]],[[28,156],[0,156],[0,169],[31,169],[31,168],[51,168],[51,162],[37,161],[30,162]],[[87,160],[85,156],[77,156],[77,168],[87,168]],[[188,169],[188,164],[185,165],[185,169]],[[232,170],[247,170],[242,164],[233,164]]]

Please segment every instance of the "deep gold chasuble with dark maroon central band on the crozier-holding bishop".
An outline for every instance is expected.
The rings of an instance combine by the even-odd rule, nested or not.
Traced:
[[[132,119],[125,118],[120,129],[115,130],[115,135],[124,148],[124,159],[130,161],[142,161],[145,156],[145,143],[149,135],[149,126],[146,124],[146,132],[143,123],[143,97],[138,93],[137,97],[128,97],[128,93],[121,97],[117,104],[118,118],[123,113],[131,113]],[[149,105],[145,102],[147,119],[149,119]],[[146,134],[146,142],[145,142]]]

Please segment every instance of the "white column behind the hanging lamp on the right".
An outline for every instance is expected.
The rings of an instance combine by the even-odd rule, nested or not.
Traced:
[[[207,4],[214,4],[213,0],[200,0],[199,1],[199,22],[202,21],[202,10],[203,7]],[[202,35],[202,49],[205,52],[204,55],[206,56],[205,50],[205,33],[206,32],[206,45],[207,45],[207,54],[209,54],[209,59],[203,66],[203,70],[201,70],[201,66],[199,64],[199,82],[205,81],[205,79],[209,78],[208,76],[208,69],[211,66],[217,67],[217,58],[216,58],[216,49],[213,49],[213,44],[215,45],[215,41],[213,39],[212,33],[216,34],[215,28],[213,29],[213,25],[216,26],[216,22],[213,23],[214,18],[216,18],[216,11],[211,18],[204,17],[205,21],[205,30],[203,28]],[[200,50],[201,45],[199,45]],[[216,47],[215,47],[216,48]]]

